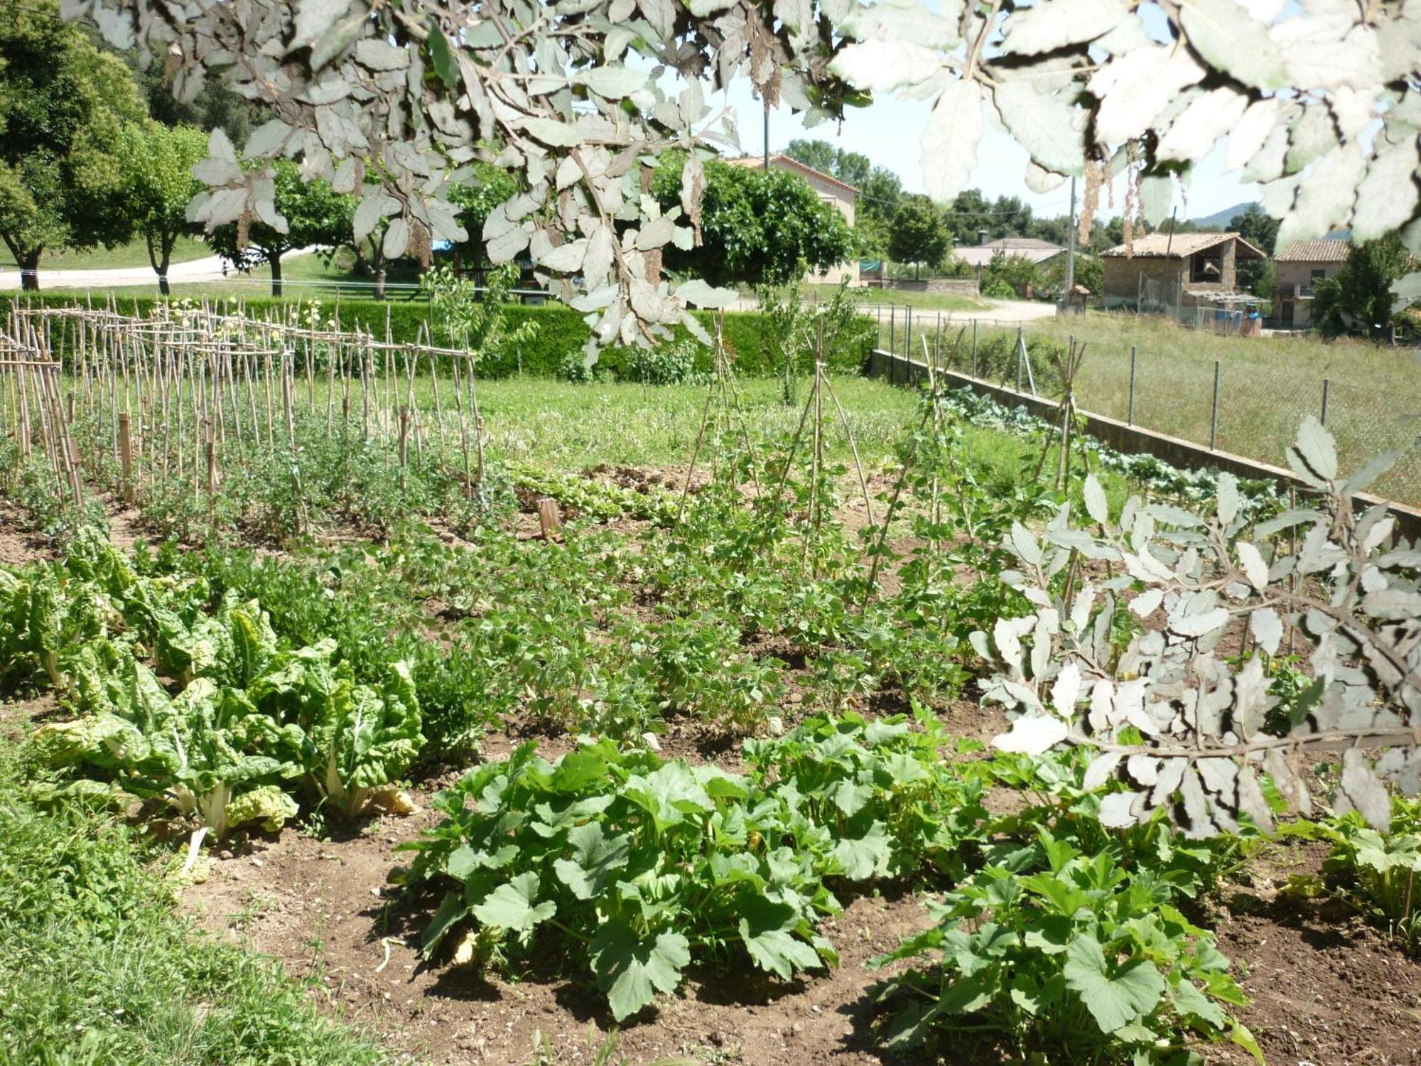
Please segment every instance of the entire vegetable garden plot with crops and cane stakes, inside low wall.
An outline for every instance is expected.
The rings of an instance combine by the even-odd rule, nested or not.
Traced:
[[[773,382],[712,320],[692,384],[561,387],[689,411],[577,469],[466,345],[16,308],[6,1057],[1414,1056],[1421,556],[1350,505],[1385,461],[1307,424],[1289,507],[935,382],[872,421],[838,328]],[[188,1013],[55,995],[57,914],[94,974],[88,927],[190,951]]]

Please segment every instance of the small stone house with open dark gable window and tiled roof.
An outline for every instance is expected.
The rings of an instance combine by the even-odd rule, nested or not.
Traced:
[[[1238,291],[1238,260],[1268,256],[1238,233],[1151,233],[1100,259],[1107,308],[1179,311],[1253,300]]]

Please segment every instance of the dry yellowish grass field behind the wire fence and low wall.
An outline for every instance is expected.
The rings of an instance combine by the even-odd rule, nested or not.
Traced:
[[[936,341],[936,324],[914,324],[912,351],[921,337]],[[1034,374],[1053,377],[1046,340],[1064,350],[1070,338],[1086,345],[1076,382],[1077,405],[1111,418],[1130,415],[1130,362],[1135,350],[1134,421],[1138,425],[1208,445],[1214,429],[1214,375],[1219,370],[1215,445],[1221,451],[1282,465],[1283,452],[1306,415],[1322,416],[1327,382],[1327,426],[1337,436],[1341,461],[1358,466],[1388,449],[1408,449],[1376,490],[1403,503],[1421,502],[1421,361],[1410,350],[1366,341],[1299,337],[1228,337],[1191,330],[1147,316],[1091,313],[1070,320],[1046,318],[1025,327],[1037,354]],[[978,327],[980,352],[996,351],[996,377],[1015,384],[1015,362],[1002,354],[1015,345],[1015,327]],[[887,337],[884,337],[887,341]],[[972,367],[972,331],[953,352],[956,331],[944,333],[942,360]],[[904,351],[898,323],[895,350]],[[985,358],[983,358],[985,362]],[[1005,372],[1005,377],[1003,377]],[[986,377],[988,371],[982,371]],[[1043,389],[1044,391],[1044,389]]]

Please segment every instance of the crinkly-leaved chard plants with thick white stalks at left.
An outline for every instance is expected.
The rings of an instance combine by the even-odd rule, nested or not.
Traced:
[[[45,678],[81,715],[36,733],[51,769],[82,775],[58,792],[161,799],[216,837],[279,827],[297,789],[362,813],[423,742],[408,665],[358,684],[335,641],[281,648],[256,600],[207,600],[200,578],[141,576],[95,539],[65,564],[0,570],[7,672]]]

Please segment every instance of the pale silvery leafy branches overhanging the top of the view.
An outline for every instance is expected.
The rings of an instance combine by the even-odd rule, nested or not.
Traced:
[[[517,171],[520,192],[483,227],[490,259],[527,253],[540,274],[566,279],[598,343],[664,337],[688,303],[733,298],[672,289],[659,264],[684,230],[693,240],[710,145],[737,149],[733,122],[708,102],[737,77],[810,124],[875,94],[926,102],[924,182],[939,203],[966,186],[990,108],[1026,149],[1033,192],[1084,179],[1086,229],[1120,176],[1158,225],[1194,162],[1228,136],[1226,168],[1260,183],[1282,243],[1401,229],[1421,249],[1414,1],[75,0],[74,10],[119,47],[173,45],[182,98],[210,77],[274,105],[279,118],[246,145],[259,163],[300,154],[306,176],[354,190],[378,158],[379,188],[365,192],[375,208],[357,237],[398,219],[387,253],[465,237],[448,193],[468,162]],[[657,64],[681,75],[674,95],[649,77]],[[671,148],[696,152],[674,213],[644,198],[644,169]],[[270,175],[239,166],[225,136],[207,181],[198,217],[209,227],[274,216]],[[634,220],[635,236],[620,229]]]

